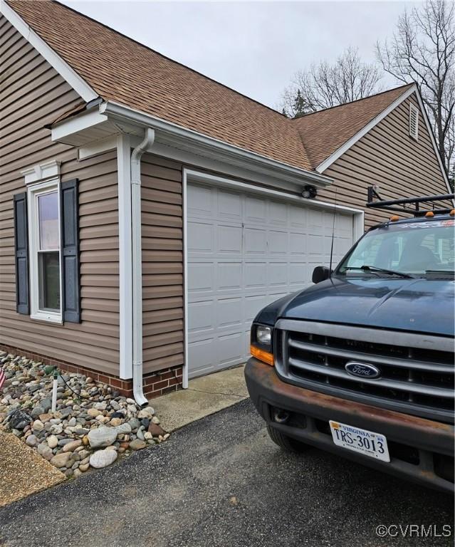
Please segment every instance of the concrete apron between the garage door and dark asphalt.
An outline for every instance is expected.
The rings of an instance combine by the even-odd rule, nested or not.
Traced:
[[[163,429],[171,432],[248,397],[241,365],[189,380],[187,390],[157,397],[150,404]]]

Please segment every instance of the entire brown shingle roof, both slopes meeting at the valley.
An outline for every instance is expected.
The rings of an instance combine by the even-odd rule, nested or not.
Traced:
[[[104,100],[312,170],[404,92],[289,120],[56,1],[8,0]]]

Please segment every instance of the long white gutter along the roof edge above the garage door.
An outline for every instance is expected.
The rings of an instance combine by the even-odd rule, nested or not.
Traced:
[[[327,187],[332,183],[332,179],[325,175],[292,167],[284,162],[271,160],[271,158],[250,152],[244,148],[229,145],[226,142],[207,137],[194,130],[187,129],[180,125],[167,122],[155,116],[151,116],[135,110],[133,108],[120,105],[113,101],[108,101],[100,105],[100,113],[105,113],[108,116],[134,122],[144,127],[153,127],[160,134],[167,134],[172,137],[172,140],[182,140],[191,143],[195,151],[210,150],[216,152],[223,157],[231,157],[233,160],[241,160],[248,166],[249,170],[259,170],[263,173],[272,174],[276,177],[281,177],[290,182],[300,182],[301,184],[314,184],[317,187]],[[279,135],[277,135],[279,138]]]

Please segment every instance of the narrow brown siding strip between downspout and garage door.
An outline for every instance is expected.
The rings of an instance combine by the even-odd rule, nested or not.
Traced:
[[[142,156],[144,373],[183,364],[182,165]]]

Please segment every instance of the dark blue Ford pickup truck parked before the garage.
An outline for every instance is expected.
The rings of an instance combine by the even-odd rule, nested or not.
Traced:
[[[454,490],[454,212],[372,227],[258,313],[246,385],[279,447]]]

